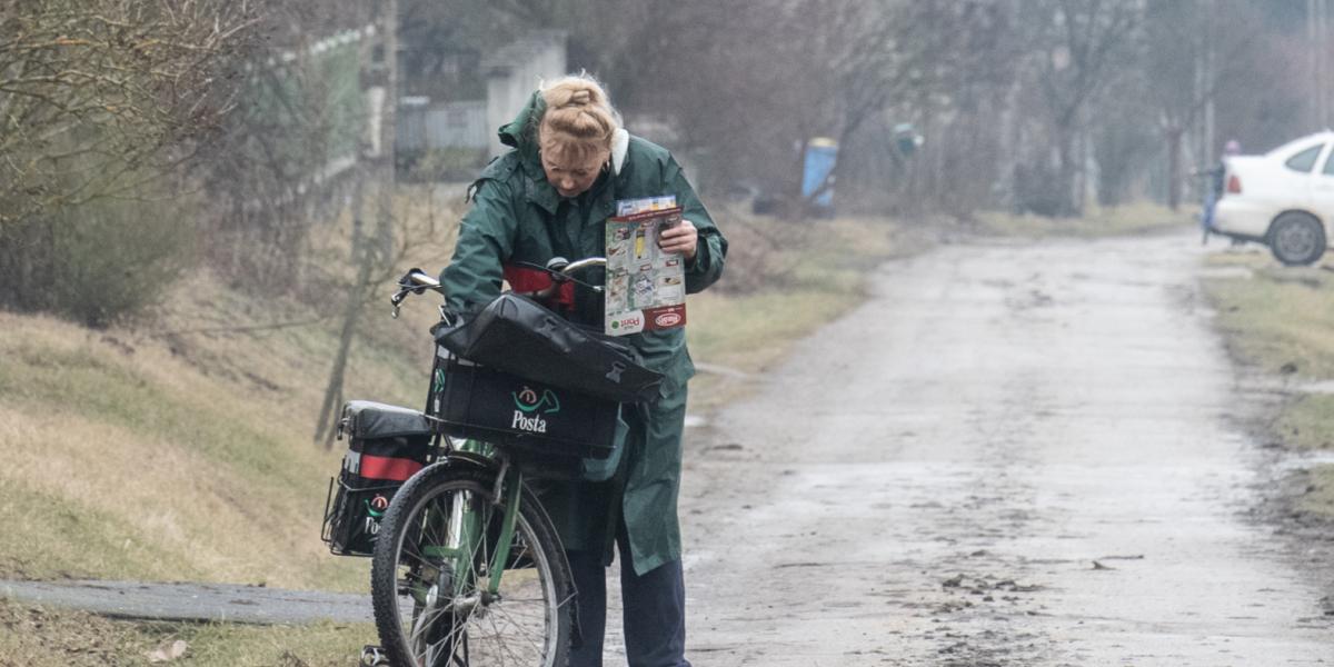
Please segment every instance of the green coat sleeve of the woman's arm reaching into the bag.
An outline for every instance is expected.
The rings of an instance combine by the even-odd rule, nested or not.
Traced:
[[[472,208],[459,224],[454,259],[440,273],[451,309],[471,312],[500,293],[502,264],[514,253],[518,229],[510,185],[483,179],[472,197]]]

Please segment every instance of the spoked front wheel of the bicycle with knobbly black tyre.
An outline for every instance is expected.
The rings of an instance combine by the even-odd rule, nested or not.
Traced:
[[[395,495],[371,563],[375,624],[391,664],[564,667],[570,566],[527,488],[491,590],[506,514],[495,482],[492,471],[438,466]]]

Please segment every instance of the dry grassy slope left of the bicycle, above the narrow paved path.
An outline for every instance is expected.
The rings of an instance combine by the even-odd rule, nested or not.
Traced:
[[[400,215],[420,223],[423,199],[404,196]],[[404,261],[443,263],[439,244],[411,251]],[[366,307],[347,398],[416,406],[431,308],[391,320],[391,291]],[[0,313],[0,576],[364,590],[366,563],[319,542],[342,443],[312,435],[342,304],[199,275],[137,328]]]

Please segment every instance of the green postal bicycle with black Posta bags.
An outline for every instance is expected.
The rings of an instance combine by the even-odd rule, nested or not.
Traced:
[[[575,263],[558,257],[542,267],[552,279],[550,285],[523,296],[551,300],[571,284],[575,272],[600,265],[606,265],[603,257]],[[407,296],[440,291],[439,281],[419,269],[410,271],[399,287],[391,299],[395,316]],[[507,303],[511,307],[519,304],[522,309],[528,301],[511,297]],[[544,317],[540,312],[538,316]],[[482,321],[482,317],[475,321]],[[555,325],[543,320],[538,328]],[[606,390],[607,396],[618,400],[554,390],[452,354],[440,342],[452,340],[448,335],[460,331],[460,327],[443,304],[440,324],[432,331],[436,332],[438,347],[424,412],[412,415],[415,411],[366,403],[352,407],[358,402],[346,408],[346,415],[364,418],[350,426],[354,434],[368,419],[380,424],[363,428],[362,435],[370,435],[372,440],[376,436],[383,440],[390,434],[394,438],[422,438],[427,435],[424,431],[432,438],[430,455],[399,459],[420,464],[420,470],[402,487],[340,487],[332,512],[335,518],[325,519],[324,532],[335,534],[331,542],[335,554],[366,555],[364,542],[352,547],[348,544],[355,540],[339,542],[339,531],[351,534],[355,530],[350,532],[339,524],[338,514],[352,507],[346,511],[360,520],[362,515],[356,514],[359,500],[364,500],[367,512],[383,510],[374,530],[370,528],[371,519],[364,520],[364,532],[371,532],[374,539],[370,554],[371,596],[382,646],[367,647],[362,662],[368,666],[411,667],[563,666],[571,642],[579,640],[576,592],[560,539],[527,475],[551,472],[551,468],[560,472],[556,476],[576,475],[578,471],[560,470],[562,466],[578,467],[571,462],[582,462],[579,456],[610,454],[618,400],[626,396],[600,386],[594,391]],[[440,331],[451,334],[442,335]],[[571,331],[564,335],[578,339],[579,331]],[[542,334],[552,335],[551,331]],[[607,347],[591,348],[595,355],[612,359],[607,362],[612,364],[607,378],[619,383],[627,371],[632,371],[623,359],[614,359],[620,348],[596,338],[590,340]],[[504,364],[507,360],[500,362]],[[495,419],[488,422],[487,410],[491,406],[484,404],[487,399],[479,399],[490,391],[490,384],[495,384],[498,374],[514,387],[514,406],[510,406],[514,420],[510,424]],[[638,387],[635,391],[643,392],[644,386],[656,388],[652,378],[656,374],[652,371],[630,375],[631,384]],[[482,407],[474,404],[478,400]],[[560,426],[558,419],[564,416],[563,411],[575,415],[572,419],[578,419],[583,430],[566,434],[568,442],[563,447],[568,447],[552,454],[548,446],[558,443],[554,431]],[[591,411],[600,412],[594,415]],[[411,422],[416,418],[424,422]],[[352,418],[344,418],[344,422],[350,420]],[[394,420],[399,422],[383,426]],[[455,443],[455,438],[460,442]],[[582,439],[588,442],[578,444]],[[356,452],[358,471],[364,471],[367,462],[380,464],[380,456],[366,454],[370,442],[363,440],[362,450]],[[352,451],[356,451],[356,444],[354,435]],[[395,440],[398,444],[402,443]],[[350,464],[344,468],[348,470]],[[344,490],[350,502],[343,502]],[[372,492],[380,495],[370,496]],[[387,500],[386,507],[387,492],[392,494],[392,500]],[[336,524],[334,528],[328,527],[331,520]]]

